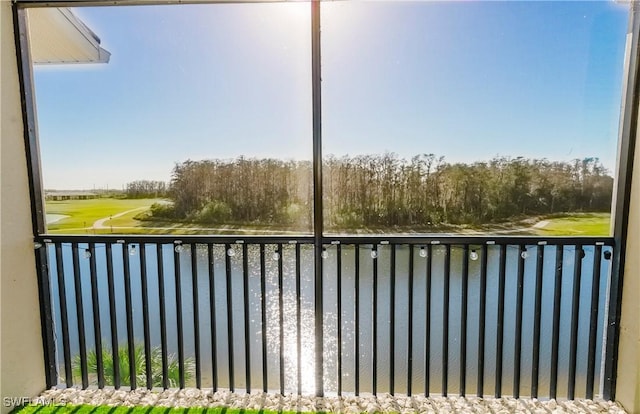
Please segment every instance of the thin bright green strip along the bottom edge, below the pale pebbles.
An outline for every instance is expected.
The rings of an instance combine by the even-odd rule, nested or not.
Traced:
[[[26,405],[12,414],[293,414],[295,411],[245,410],[227,407],[173,408],[173,407],[110,407],[92,405]]]

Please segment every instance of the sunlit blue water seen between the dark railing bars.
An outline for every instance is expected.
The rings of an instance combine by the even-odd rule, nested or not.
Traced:
[[[89,274],[89,260],[83,257],[82,252],[86,246],[80,245],[80,272],[82,283],[82,300],[85,315],[85,330],[87,347],[94,347],[93,323],[91,309],[91,286]],[[168,351],[177,355],[177,318],[176,318],[176,284],[174,274],[174,250],[173,245],[165,245],[163,249],[164,268],[164,292],[167,309]],[[209,307],[209,276],[208,256],[204,245],[197,246],[196,265],[197,277],[195,285],[198,292],[200,346],[202,350],[203,387],[211,387],[212,354],[215,353],[217,361],[217,379],[220,387],[229,386],[228,364],[228,321],[231,321],[233,330],[233,369],[236,389],[244,389],[245,382],[245,341],[250,344],[250,373],[251,388],[262,389],[262,326],[261,326],[261,294],[260,294],[260,256],[258,246],[247,246],[248,251],[248,315],[249,335],[244,337],[244,301],[243,301],[243,273],[242,273],[242,249],[234,247],[235,255],[231,257],[231,291],[232,312],[227,312],[227,285],[224,246],[213,247],[213,269],[215,288],[215,335],[216,346],[211,347],[211,309]],[[267,245],[265,254],[265,289],[266,289],[266,337],[267,337],[267,387],[270,390],[279,390],[279,358],[280,358],[280,328],[279,328],[279,296],[278,296],[278,260],[272,254],[275,245]],[[313,249],[311,246],[300,246],[301,249],[301,382],[303,393],[313,393],[315,390],[314,369],[314,280],[313,280]],[[553,312],[553,289],[555,273],[555,250],[553,246],[545,246],[545,259],[543,263],[543,296],[541,313],[541,346],[540,346],[540,396],[549,393],[550,355],[551,355],[551,331]],[[593,247],[585,247],[583,259],[580,296],[580,319],[578,327],[578,365],[576,397],[584,396],[586,386],[586,364],[589,332],[589,308],[591,301]],[[605,248],[607,249],[607,248]],[[414,393],[423,393],[425,390],[425,343],[429,341],[429,390],[431,393],[442,392],[442,332],[443,332],[443,288],[444,288],[444,258],[445,247],[434,246],[432,251],[432,278],[431,278],[431,318],[430,335],[426,335],[426,265],[427,259],[418,255],[414,249],[414,303],[413,303],[413,355],[412,355],[412,389]],[[529,257],[525,260],[524,268],[524,301],[523,301],[523,326],[522,326],[522,365],[520,394],[529,395],[531,386],[531,356],[533,353],[533,314],[534,314],[534,290],[535,290],[535,265],[536,247],[528,247]],[[573,265],[574,248],[566,247],[564,252],[562,273],[562,297],[560,318],[560,346],[559,346],[559,378],[558,395],[567,393],[567,372],[569,363],[569,332],[571,324],[571,295],[573,289]],[[480,250],[478,250],[480,251]],[[390,361],[395,365],[395,391],[405,392],[407,389],[407,344],[408,344],[408,320],[409,320],[409,254],[408,246],[398,246],[396,253],[395,272],[395,329],[390,331],[390,246],[378,247],[379,257],[375,259],[378,265],[378,317],[377,317],[377,363],[378,380],[377,391],[389,390]],[[494,372],[496,366],[496,341],[497,341],[497,307],[498,307],[498,266],[499,247],[488,248],[487,271],[487,306],[486,306],[486,352],[485,352],[485,395],[494,393]],[[125,252],[126,254],[126,252]],[[450,275],[450,309],[449,309],[449,338],[448,338],[448,391],[456,394],[460,390],[460,326],[461,326],[461,289],[462,289],[462,254],[461,248],[451,249],[451,275]],[[336,272],[337,257],[336,247],[328,248],[328,257],[324,259],[323,294],[324,294],[324,379],[325,390],[328,393],[337,391],[337,356],[338,347],[342,351],[342,387],[345,392],[352,392],[355,386],[355,363],[360,366],[360,392],[371,391],[372,372],[372,342],[373,342],[373,266],[369,248],[360,247],[360,329],[355,332],[355,249],[353,246],[342,246],[342,343],[338,344],[338,315],[337,315],[337,291],[338,278]],[[124,277],[122,267],[122,245],[113,246],[114,275],[115,275],[115,299],[117,317],[117,335],[119,343],[126,344],[126,314],[124,299]],[[148,275],[149,326],[152,346],[160,345],[160,310],[158,300],[158,275],[157,254],[154,245],[146,246],[146,263]],[[519,251],[517,246],[507,248],[507,273],[505,285],[505,326],[504,326],[504,355],[503,355],[503,389],[505,395],[513,393],[513,364],[515,341],[515,314],[517,292],[517,261]],[[55,273],[55,251],[50,249],[51,269]],[[295,392],[297,383],[297,313],[296,313],[296,269],[295,248],[284,246],[282,252],[283,273],[283,365],[285,377],[285,390]],[[67,293],[67,308],[70,319],[70,343],[72,355],[79,351],[78,329],[75,309],[75,291],[73,284],[73,269],[70,246],[63,246],[63,259],[65,264],[65,285]],[[142,315],[142,289],[140,280],[140,248],[135,256],[129,256],[131,269],[133,322],[136,342],[143,341],[143,315]],[[100,304],[100,319],[102,328],[103,346],[111,344],[108,287],[106,276],[106,254],[103,244],[96,245],[96,263],[98,269],[98,290]],[[480,263],[481,260],[469,261],[468,273],[468,310],[467,310],[467,393],[476,390],[477,378],[477,343],[478,343],[478,309],[480,300]],[[599,293],[598,307],[598,338],[602,338],[603,320],[605,317],[605,294],[609,273],[609,261],[602,261],[602,277]],[[181,299],[183,306],[183,326],[185,353],[188,357],[194,356],[194,321],[193,321],[193,284],[191,274],[191,250],[189,246],[179,254],[181,277]],[[55,303],[56,335],[61,338],[61,322],[59,317],[58,283],[57,276],[52,275],[52,290]],[[360,347],[354,348],[358,335]],[[390,338],[394,338],[395,353],[390,355]],[[602,339],[597,344],[596,367],[600,367]],[[60,363],[60,375],[64,376],[62,361],[62,343],[58,340],[58,361]],[[599,371],[599,368],[597,368]],[[599,383],[599,372],[596,372],[596,381]],[[79,382],[79,378],[76,378]],[[63,382],[61,380],[60,382]],[[189,385],[189,384],[188,384]],[[191,384],[193,385],[193,384]],[[596,386],[596,393],[598,387]]]

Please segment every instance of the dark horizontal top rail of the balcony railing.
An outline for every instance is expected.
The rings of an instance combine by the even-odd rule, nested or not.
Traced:
[[[605,236],[504,236],[504,235],[325,235],[323,243],[331,244],[414,244],[414,245],[602,245],[614,246],[613,237]],[[37,242],[64,243],[214,243],[214,244],[312,244],[313,236],[289,235],[62,235],[44,234],[35,238]]]

